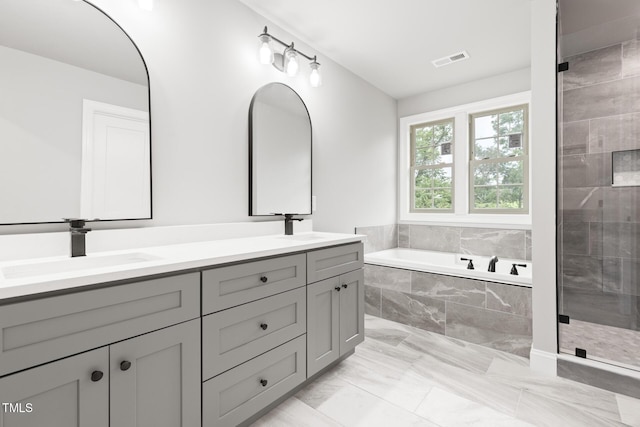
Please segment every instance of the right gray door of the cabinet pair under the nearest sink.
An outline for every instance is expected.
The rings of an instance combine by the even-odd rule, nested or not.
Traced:
[[[110,350],[112,426],[200,426],[199,319]]]

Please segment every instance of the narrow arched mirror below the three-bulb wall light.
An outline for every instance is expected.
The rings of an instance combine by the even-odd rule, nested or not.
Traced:
[[[311,214],[311,118],[282,83],[251,101],[249,173],[249,215]]]

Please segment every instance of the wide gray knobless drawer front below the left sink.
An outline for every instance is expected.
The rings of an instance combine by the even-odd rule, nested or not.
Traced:
[[[3,306],[0,375],[200,315],[198,273]]]

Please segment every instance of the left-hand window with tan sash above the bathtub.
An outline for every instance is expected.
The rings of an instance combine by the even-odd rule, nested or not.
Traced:
[[[453,212],[454,119],[411,126],[411,211]]]

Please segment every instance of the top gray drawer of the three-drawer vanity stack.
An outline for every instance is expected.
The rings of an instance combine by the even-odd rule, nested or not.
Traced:
[[[305,284],[305,255],[247,262],[202,272],[202,313],[285,292]]]

